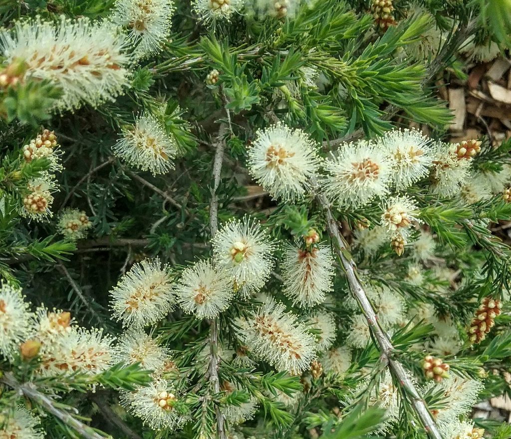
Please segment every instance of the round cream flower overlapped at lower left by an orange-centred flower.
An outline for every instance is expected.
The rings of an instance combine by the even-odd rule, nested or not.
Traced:
[[[377,143],[394,158],[393,180],[398,191],[428,175],[433,146],[431,139],[422,132],[415,129],[389,131]]]

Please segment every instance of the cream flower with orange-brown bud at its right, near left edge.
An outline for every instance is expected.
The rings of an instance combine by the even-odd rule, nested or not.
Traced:
[[[50,311],[43,305],[35,312],[34,334],[32,337],[42,344],[51,345],[62,335],[72,331],[73,319],[68,311],[53,309]]]

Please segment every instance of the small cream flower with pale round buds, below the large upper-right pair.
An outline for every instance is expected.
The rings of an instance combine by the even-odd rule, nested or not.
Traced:
[[[407,196],[391,197],[383,204],[381,223],[391,238],[401,235],[406,241],[410,235],[412,221],[422,222],[418,215],[419,210],[412,198]]]

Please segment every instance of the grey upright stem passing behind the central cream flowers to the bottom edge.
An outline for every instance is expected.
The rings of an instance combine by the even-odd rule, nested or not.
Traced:
[[[222,171],[223,155],[225,149],[225,132],[227,127],[225,124],[220,125],[218,131],[217,150],[215,152],[215,161],[213,162],[213,188],[211,190],[210,202],[210,231],[212,238],[218,231],[218,196],[217,190],[220,185],[220,173]],[[220,391],[220,381],[218,379],[218,318],[213,319],[210,327],[210,365],[208,367],[208,375],[210,383],[213,386],[215,393]],[[215,407],[217,418],[217,430],[219,439],[227,439],[225,431],[223,414],[220,412],[220,407]]]

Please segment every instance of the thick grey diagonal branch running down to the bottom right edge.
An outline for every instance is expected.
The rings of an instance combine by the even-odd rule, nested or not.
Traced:
[[[316,199],[326,214],[328,233],[334,244],[335,252],[337,253],[341,266],[346,274],[346,279],[350,285],[350,290],[355,296],[362,314],[367,320],[367,324],[369,325],[371,333],[378,343],[378,348],[381,352],[383,360],[387,362],[390,373],[395,378],[397,378],[399,383],[406,390],[407,398],[409,398],[413,409],[417,414],[417,417],[421,420],[421,423],[423,424],[431,439],[443,439],[442,435],[438,431],[433,417],[431,416],[431,413],[428,410],[428,407],[426,406],[426,403],[424,402],[424,399],[420,396],[419,392],[415,388],[405,368],[399,361],[393,358],[392,353],[394,351],[394,346],[392,345],[385,331],[381,328],[373,305],[371,305],[369,299],[367,298],[367,294],[365,293],[364,288],[358,279],[356,271],[357,267],[349,255],[349,252],[347,252],[346,246],[344,245],[344,240],[339,233],[337,221],[332,214],[332,210],[330,209],[330,203],[327,197],[324,194],[321,194],[319,191],[319,185],[316,179],[312,179],[311,182],[315,188]]]

